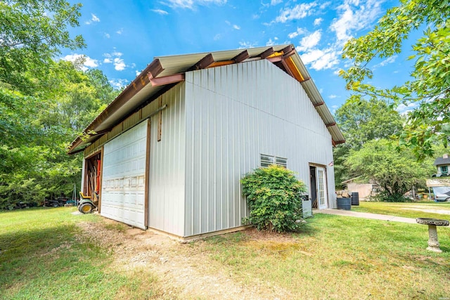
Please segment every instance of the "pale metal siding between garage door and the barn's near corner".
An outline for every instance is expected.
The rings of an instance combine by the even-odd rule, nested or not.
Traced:
[[[185,112],[184,83],[162,98],[162,135],[158,142],[159,114],[151,118],[148,226],[184,236]],[[160,98],[150,104],[156,111]]]

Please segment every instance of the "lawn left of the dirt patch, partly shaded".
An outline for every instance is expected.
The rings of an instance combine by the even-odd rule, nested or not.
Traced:
[[[82,239],[76,222],[96,222],[75,208],[0,212],[0,299],[145,299],[152,276],[117,272],[113,252]],[[145,288],[142,288],[145,287]]]

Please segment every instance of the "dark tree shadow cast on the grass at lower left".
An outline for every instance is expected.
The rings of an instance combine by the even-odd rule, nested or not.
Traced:
[[[80,283],[90,282],[89,277],[83,280],[84,275],[102,273],[93,261],[105,259],[95,244],[75,240],[73,224],[4,233],[0,235],[0,249],[0,289],[18,289],[15,296],[23,299],[36,296],[29,294],[36,287],[51,292],[75,278]],[[25,294],[20,293],[22,289]]]

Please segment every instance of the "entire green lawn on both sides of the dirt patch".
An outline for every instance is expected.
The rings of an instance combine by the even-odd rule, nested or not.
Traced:
[[[77,223],[95,223],[98,230],[117,234],[132,229],[97,215],[73,216],[72,211],[0,212],[0,299],[179,297],[165,293],[184,289],[173,286],[170,272],[162,280],[147,269],[117,268],[114,250],[101,247],[94,237],[80,235]],[[267,295],[280,299],[446,299],[450,295],[450,228],[439,228],[438,233],[442,254],[425,249],[425,226],[316,214],[302,233],[271,235],[251,229],[173,244],[167,250],[170,253],[158,255],[172,255],[168,263],[176,261],[174,255],[197,255],[200,259],[195,263],[205,266],[203,275],[226,274],[222,284],[229,281],[245,290],[258,287],[255,297],[262,299]],[[189,268],[195,268],[195,263]],[[188,280],[195,285],[195,276]],[[187,299],[210,298],[195,294],[194,289]]]

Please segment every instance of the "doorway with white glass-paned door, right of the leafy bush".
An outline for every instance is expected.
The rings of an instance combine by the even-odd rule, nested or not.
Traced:
[[[312,207],[316,209],[328,208],[328,193],[326,190],[325,167],[309,166],[309,186]]]

